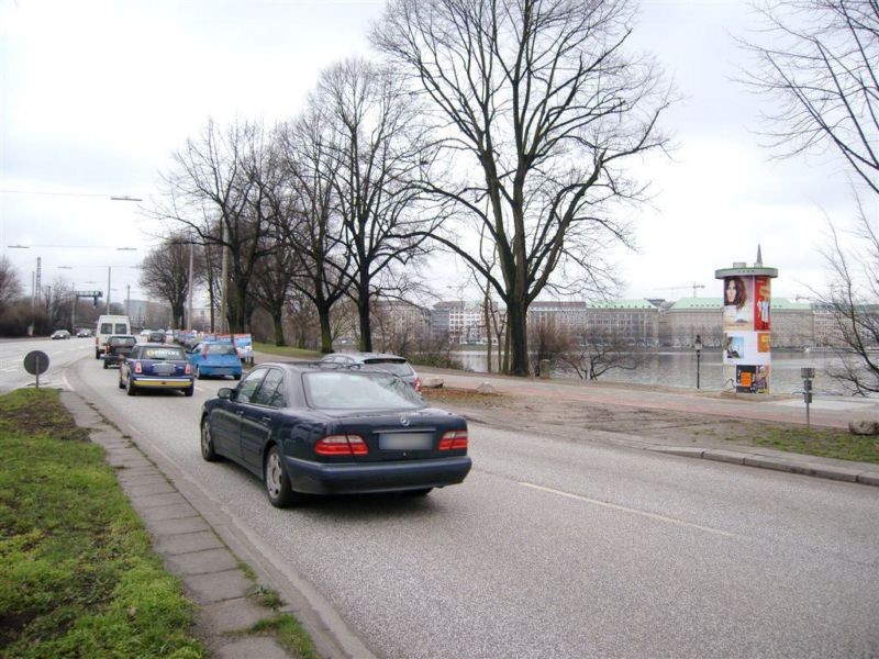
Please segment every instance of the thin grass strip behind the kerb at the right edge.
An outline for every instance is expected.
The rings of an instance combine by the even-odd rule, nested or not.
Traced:
[[[822,458],[879,463],[879,438],[846,431],[767,427],[754,437],[754,444]]]

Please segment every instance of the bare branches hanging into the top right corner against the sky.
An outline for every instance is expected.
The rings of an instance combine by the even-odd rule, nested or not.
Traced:
[[[764,38],[744,45],[757,67],[743,74],[779,101],[765,114],[781,157],[836,149],[879,194],[879,3],[777,0],[760,9]]]

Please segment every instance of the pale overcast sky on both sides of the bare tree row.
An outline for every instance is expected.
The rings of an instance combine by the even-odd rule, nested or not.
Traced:
[[[369,55],[379,0],[0,0],[0,234],[30,290],[144,293],[136,266],[157,242],[138,204],[170,155],[209,118],[223,124],[296,115],[319,74]],[[824,269],[826,217],[849,222],[845,171],[833,154],[772,160],[759,146],[760,103],[732,80],[733,43],[753,15],[738,1],[642,3],[633,46],[653,52],[683,102],[666,118],[677,150],[643,167],[653,203],[632,214],[637,253],[620,252],[628,298],[720,297],[714,270],[779,269],[776,295],[808,295]],[[10,245],[31,245],[30,249]],[[116,247],[137,247],[120,252]],[[67,269],[67,268],[70,269]],[[461,279],[464,275],[461,275]],[[448,278],[445,281],[449,282]]]

